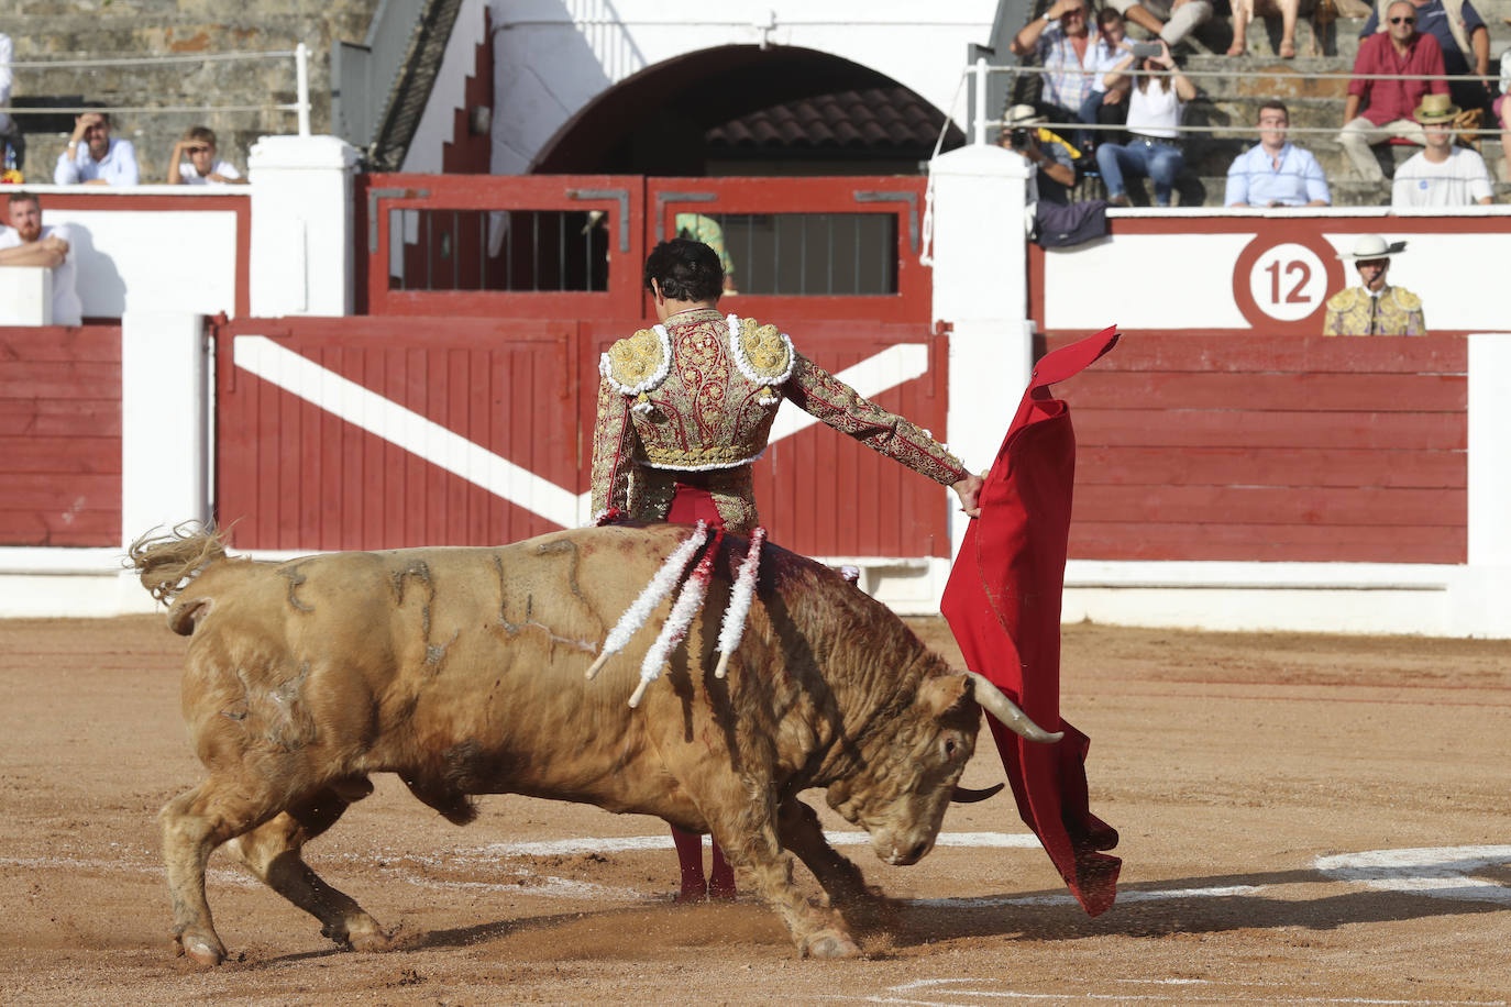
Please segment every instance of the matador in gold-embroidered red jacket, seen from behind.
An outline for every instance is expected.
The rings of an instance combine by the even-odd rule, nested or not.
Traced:
[[[603,355],[592,436],[592,510],[636,521],[709,521],[748,536],[759,524],[751,463],[766,450],[786,399],[828,426],[950,486],[976,516],[981,477],[943,444],[799,353],[756,319],[718,309],[724,267],[701,242],[662,242],[645,260],[645,287],[660,325],[620,340]],[[734,897],[734,874],[713,844],[703,874],[703,839],[672,829],[681,865],[678,901]]]

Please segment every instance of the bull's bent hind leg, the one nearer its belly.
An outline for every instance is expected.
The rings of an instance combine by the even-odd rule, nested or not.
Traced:
[[[345,785],[340,794],[320,790],[272,821],[231,839],[230,848],[269,888],[319,919],[326,938],[357,951],[387,951],[391,942],[378,921],[351,895],[326,885],[301,855],[305,842],[335,824],[351,800],[370,793],[372,784],[366,779]]]

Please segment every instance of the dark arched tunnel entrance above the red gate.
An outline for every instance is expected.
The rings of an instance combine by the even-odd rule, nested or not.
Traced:
[[[946,116],[860,63],[725,45],[610,88],[545,145],[533,174],[916,175]],[[947,125],[944,148],[964,142]]]

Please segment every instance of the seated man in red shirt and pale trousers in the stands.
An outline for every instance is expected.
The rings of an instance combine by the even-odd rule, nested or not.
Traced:
[[[1348,101],[1343,104],[1343,130],[1339,143],[1348,152],[1354,169],[1366,181],[1384,181],[1373,152],[1375,143],[1384,143],[1401,136],[1413,143],[1426,143],[1426,133],[1411,119],[1422,95],[1446,95],[1443,80],[1363,80],[1358,74],[1408,74],[1443,75],[1443,50],[1431,35],[1416,29],[1416,8],[1411,0],[1393,0],[1389,9],[1390,30],[1370,35],[1358,45],[1354,59],[1354,80],[1348,83]],[[1364,104],[1360,115],[1360,104]]]

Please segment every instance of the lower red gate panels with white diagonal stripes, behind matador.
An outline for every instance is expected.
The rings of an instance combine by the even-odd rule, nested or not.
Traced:
[[[568,501],[589,488],[598,355],[641,325],[222,325],[216,516],[234,522],[237,548],[299,551],[488,545],[571,525],[579,515]],[[793,338],[836,371],[898,344],[920,347],[928,370],[873,397],[943,430],[943,337],[922,326],[827,322]],[[394,411],[399,420],[385,418]],[[425,430],[437,456],[405,441]],[[490,488],[490,473],[506,467],[526,473],[523,489]],[[756,473],[762,518],[784,547],[811,556],[949,554],[946,491],[822,424],[774,442]]]

